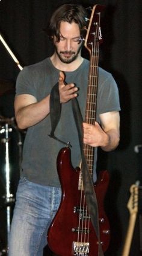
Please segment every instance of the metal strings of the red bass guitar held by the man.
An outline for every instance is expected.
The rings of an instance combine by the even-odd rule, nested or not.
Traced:
[[[88,87],[88,93],[87,93],[87,107],[88,111],[85,115],[85,121],[89,120],[92,122],[91,124],[94,124],[94,121],[96,121],[96,94],[97,94],[97,66],[98,66],[98,45],[99,43],[96,43],[96,38],[94,37],[94,49],[92,49],[93,56],[91,56],[91,65],[90,65],[90,71],[89,71],[89,81],[90,86]],[[92,46],[93,47],[93,46]],[[91,91],[90,91],[91,89]],[[93,104],[93,105],[92,105]],[[93,106],[93,111],[90,112],[90,117],[88,116],[89,109]],[[88,123],[88,122],[87,122]],[[90,171],[90,174],[93,174],[93,148],[84,144],[84,152],[86,155],[86,152],[89,152],[87,155],[87,163],[88,168]],[[81,178],[82,183],[82,178]],[[90,217],[87,213],[87,205],[85,204],[85,195],[82,194],[82,184],[81,184],[81,200],[80,200],[80,209],[79,209],[79,225],[78,225],[78,242],[79,242],[79,234],[80,234],[80,226],[81,229],[81,240],[83,238],[84,234],[84,243],[86,242],[87,237],[87,243],[89,241],[89,230],[90,230]],[[83,201],[83,203],[82,203]],[[86,205],[86,208],[85,208]],[[84,211],[85,209],[85,211]],[[84,214],[85,213],[85,214]],[[82,225],[81,225],[81,219],[82,219]],[[85,225],[84,225],[84,219],[85,219]]]

